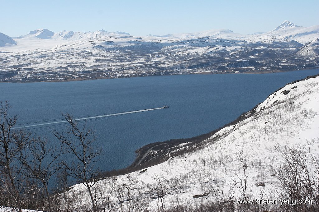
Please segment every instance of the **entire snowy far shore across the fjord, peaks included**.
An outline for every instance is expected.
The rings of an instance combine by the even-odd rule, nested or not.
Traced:
[[[319,67],[319,25],[285,21],[253,35],[209,30],[136,37],[126,32],[0,34],[0,81],[65,81],[163,74]]]

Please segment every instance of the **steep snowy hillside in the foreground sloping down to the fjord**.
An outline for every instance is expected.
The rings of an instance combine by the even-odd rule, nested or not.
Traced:
[[[250,198],[275,199],[278,178],[274,170],[284,165],[283,157],[288,148],[304,148],[309,155],[319,156],[318,99],[318,76],[287,84],[249,111],[246,119],[223,128],[203,141],[205,145],[200,149],[145,170],[97,181],[93,188],[97,193],[103,191],[101,199],[107,200],[108,206],[115,211],[129,208],[130,198],[133,203],[145,202],[145,208],[156,211],[159,199],[150,190],[158,185],[159,180],[178,187],[165,195],[164,208],[176,204],[176,201],[188,207],[214,201],[214,195],[220,189],[225,195],[234,192],[237,199],[242,199],[239,188],[234,188],[234,182],[244,176],[240,161],[242,156],[246,160],[244,167]],[[312,175],[315,174],[315,165],[310,158],[307,161]],[[129,191],[130,196],[125,190],[118,193],[114,189],[131,182],[131,179],[138,183]],[[69,192],[87,196],[77,200],[78,207],[89,204],[83,184],[74,185]],[[99,204],[102,205],[101,202]]]

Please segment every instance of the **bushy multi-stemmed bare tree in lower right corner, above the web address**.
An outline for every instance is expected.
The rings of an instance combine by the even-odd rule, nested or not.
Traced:
[[[281,199],[312,200],[313,204],[285,205],[286,211],[318,211],[319,161],[310,149],[297,145],[281,151],[282,166],[275,171],[278,179],[276,193]],[[309,168],[309,164],[313,167]]]

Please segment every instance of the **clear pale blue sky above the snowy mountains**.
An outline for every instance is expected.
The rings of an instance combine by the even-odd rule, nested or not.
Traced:
[[[164,35],[230,29],[268,32],[285,20],[319,25],[319,1],[48,1],[0,0],[0,32],[11,37],[35,29],[89,32],[104,29],[131,35]]]

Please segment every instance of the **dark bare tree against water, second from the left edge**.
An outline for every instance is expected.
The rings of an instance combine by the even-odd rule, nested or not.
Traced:
[[[61,152],[61,149],[56,147],[48,148],[47,139],[37,136],[31,138],[30,142],[28,142],[28,148],[23,149],[16,156],[26,170],[23,174],[28,178],[39,180],[43,184],[49,212],[52,211],[52,208],[48,182],[61,167],[57,161]]]

